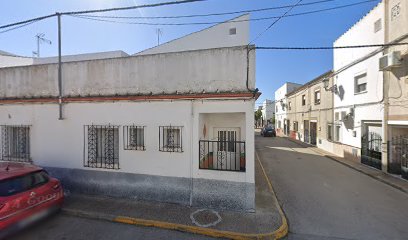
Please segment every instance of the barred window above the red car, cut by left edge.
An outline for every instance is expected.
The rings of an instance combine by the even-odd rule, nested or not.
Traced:
[[[30,126],[1,126],[1,160],[31,162]]]

